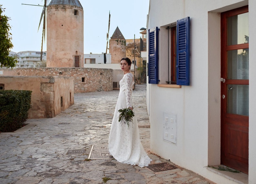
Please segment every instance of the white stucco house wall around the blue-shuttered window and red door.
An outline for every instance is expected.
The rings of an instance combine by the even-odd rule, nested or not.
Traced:
[[[159,78],[165,83],[162,69],[167,54],[163,51],[165,29],[177,20],[190,17],[190,86],[181,88],[147,85],[147,108],[151,124],[151,152],[182,167],[190,169],[216,183],[235,183],[206,169],[207,165],[220,164],[221,126],[221,30],[220,13],[248,5],[248,0],[150,0],[147,29],[159,31]],[[254,12],[256,2],[249,0],[249,34],[255,30]],[[251,11],[250,11],[251,10]],[[254,11],[254,12],[253,12]],[[161,12],[161,13],[160,13]],[[163,27],[162,27],[163,26]],[[161,28],[162,27],[162,28]],[[256,44],[250,34],[250,50]],[[254,58],[250,52],[249,58]],[[256,125],[253,110],[256,108],[255,94],[256,64],[250,59],[250,118],[249,118],[249,183],[256,176]],[[177,144],[163,140],[163,113],[177,117]]]

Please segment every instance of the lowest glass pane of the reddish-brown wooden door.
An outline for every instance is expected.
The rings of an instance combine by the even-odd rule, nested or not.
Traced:
[[[249,85],[228,84],[227,112],[249,116]]]

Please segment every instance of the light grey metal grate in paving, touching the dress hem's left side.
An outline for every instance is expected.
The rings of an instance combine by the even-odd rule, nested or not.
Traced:
[[[108,145],[93,145],[88,159],[113,158],[109,155]]]

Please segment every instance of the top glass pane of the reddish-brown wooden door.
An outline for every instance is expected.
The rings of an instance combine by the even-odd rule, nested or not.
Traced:
[[[249,43],[249,13],[227,18],[228,45]]]

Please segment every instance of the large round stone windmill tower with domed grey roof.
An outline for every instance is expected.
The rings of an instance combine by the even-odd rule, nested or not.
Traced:
[[[51,0],[46,12],[46,67],[84,67],[84,10],[79,0]]]

